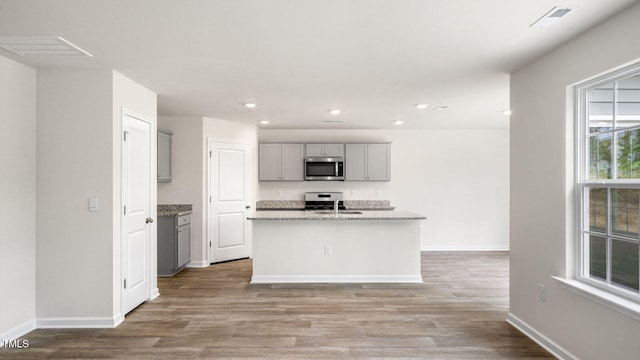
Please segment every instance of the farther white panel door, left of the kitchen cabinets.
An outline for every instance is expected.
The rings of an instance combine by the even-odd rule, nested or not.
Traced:
[[[209,261],[251,256],[251,146],[209,142]]]

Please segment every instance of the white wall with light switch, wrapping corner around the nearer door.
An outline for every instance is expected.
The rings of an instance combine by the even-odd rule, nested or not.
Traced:
[[[113,325],[122,317],[121,108],[155,124],[156,96],[111,70],[37,76],[38,326]],[[98,212],[88,211],[91,197]]]

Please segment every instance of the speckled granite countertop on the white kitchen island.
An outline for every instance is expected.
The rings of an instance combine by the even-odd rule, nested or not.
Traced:
[[[315,210],[283,210],[283,211],[256,211],[250,214],[249,220],[425,220],[426,217],[410,211],[354,211],[343,210],[335,215],[332,211]]]

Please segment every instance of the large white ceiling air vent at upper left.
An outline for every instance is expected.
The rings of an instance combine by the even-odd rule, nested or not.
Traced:
[[[59,36],[0,36],[0,47],[21,56],[93,57]]]

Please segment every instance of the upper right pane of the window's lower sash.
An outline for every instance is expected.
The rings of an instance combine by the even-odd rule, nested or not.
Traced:
[[[638,238],[638,212],[640,204],[638,189],[613,189],[613,233]]]

